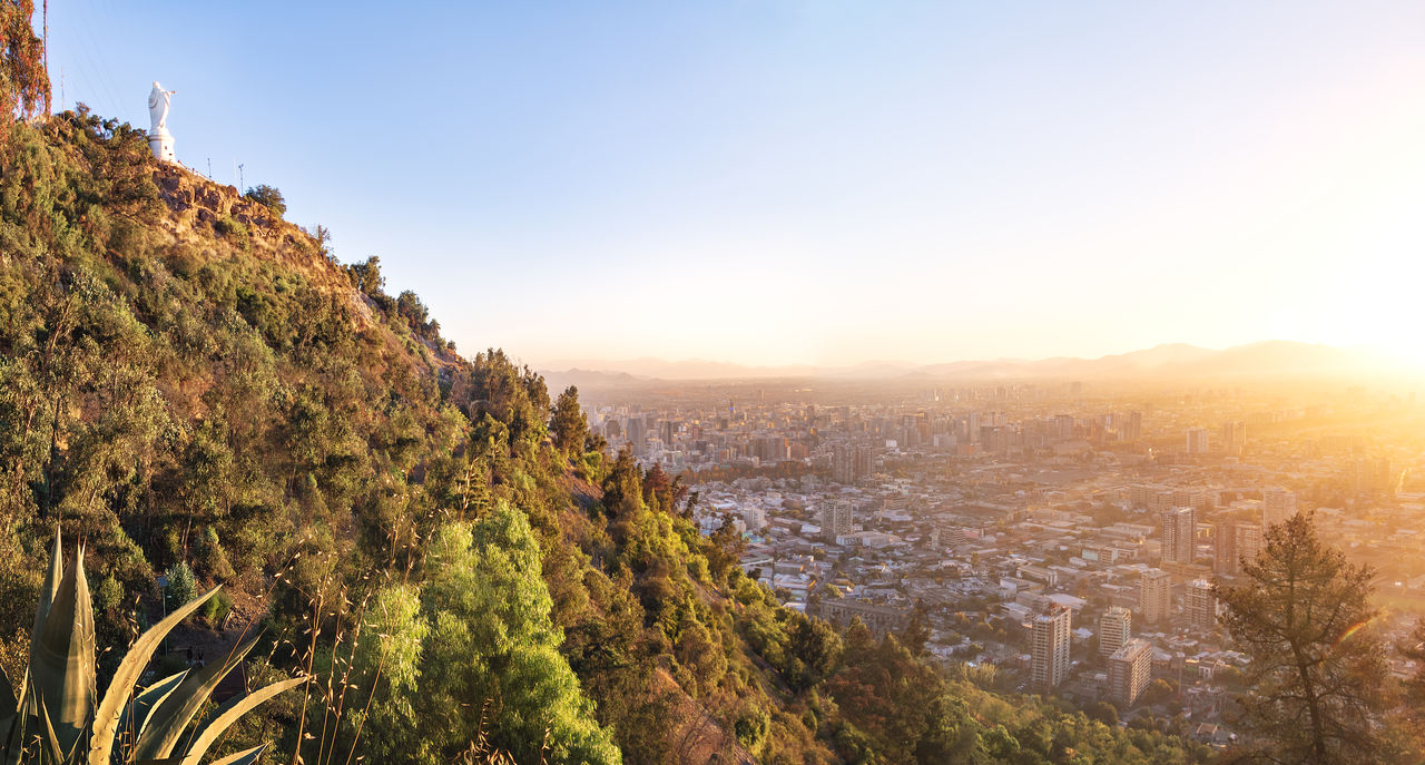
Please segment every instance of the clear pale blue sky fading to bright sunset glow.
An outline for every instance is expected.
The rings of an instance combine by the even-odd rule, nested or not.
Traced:
[[[1425,359],[1425,3],[50,3],[463,350]]]

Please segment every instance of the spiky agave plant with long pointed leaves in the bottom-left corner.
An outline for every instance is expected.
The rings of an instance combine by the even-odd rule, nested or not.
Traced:
[[[50,568],[34,613],[30,664],[19,692],[0,672],[0,745],[4,755],[0,765],[198,765],[238,718],[282,691],[306,682],[308,678],[298,677],[235,697],[218,708],[207,727],[184,738],[184,731],[218,682],[252,650],[254,640],[235,648],[225,661],[162,678],[135,695],[138,677],[160,641],[217,593],[218,587],[214,587],[198,595],[144,633],[124,655],[103,701],[98,701],[94,608],[84,578],[84,548],[66,568],[56,529]],[[251,765],[262,755],[264,746],[225,756],[212,765]]]

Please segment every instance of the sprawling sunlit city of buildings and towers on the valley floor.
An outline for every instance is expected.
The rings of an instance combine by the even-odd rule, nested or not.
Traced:
[[[995,664],[1026,691],[1177,711],[1213,735],[1245,662],[1213,584],[1240,578],[1273,526],[1310,511],[1425,604],[1425,563],[1399,554],[1425,540],[1425,494],[1406,486],[1425,444],[1352,433],[1378,402],[1082,386],[885,397],[650,397],[590,419],[685,472],[704,530],[734,519],[744,570],[788,607],[878,634],[919,610],[946,660]],[[1147,698],[1157,680],[1171,692]]]

